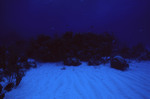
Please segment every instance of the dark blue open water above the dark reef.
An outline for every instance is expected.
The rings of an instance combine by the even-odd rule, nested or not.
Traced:
[[[148,0],[3,0],[0,15],[4,41],[41,33],[107,31],[123,42],[150,44]]]

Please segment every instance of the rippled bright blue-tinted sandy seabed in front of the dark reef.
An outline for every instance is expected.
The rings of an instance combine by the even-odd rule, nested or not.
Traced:
[[[150,62],[131,63],[128,71],[109,67],[63,67],[41,63],[26,73],[5,99],[150,99]]]

